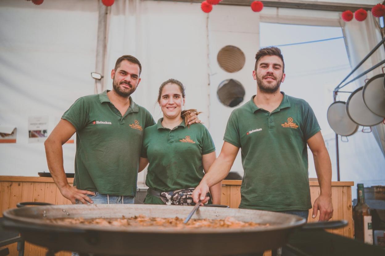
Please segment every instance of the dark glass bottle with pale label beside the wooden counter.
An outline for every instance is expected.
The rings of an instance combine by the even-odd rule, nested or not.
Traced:
[[[353,207],[354,238],[373,244],[372,212],[365,204],[363,184],[357,184],[357,204]]]

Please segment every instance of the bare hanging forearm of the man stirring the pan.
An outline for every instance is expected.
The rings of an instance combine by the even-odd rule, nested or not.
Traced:
[[[321,195],[331,197],[331,162],[326,148],[313,154]]]

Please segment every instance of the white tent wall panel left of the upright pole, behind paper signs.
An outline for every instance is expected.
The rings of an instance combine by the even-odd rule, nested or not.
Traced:
[[[17,142],[0,144],[0,175],[48,171],[42,143],[28,143],[28,117],[47,116],[48,134],[80,96],[94,92],[96,0],[0,2],[0,125],[17,127]],[[74,171],[75,145],[64,167]]]

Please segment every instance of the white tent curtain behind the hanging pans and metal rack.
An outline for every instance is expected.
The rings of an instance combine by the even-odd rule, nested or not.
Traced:
[[[352,69],[382,40],[376,22],[371,12],[368,12],[368,17],[363,22],[356,20],[350,22],[341,21],[341,23],[344,23],[346,46]],[[380,47],[356,70],[349,80],[362,74],[362,72],[383,59],[385,59],[385,52],[384,48]],[[378,67],[366,76],[358,79],[352,85],[353,89],[363,86],[365,79],[381,73],[381,67]],[[383,124],[372,127],[374,136],[358,131],[349,137],[348,143],[340,143],[341,180],[363,182],[365,186],[385,184],[383,172],[385,166],[384,127],[385,125]]]

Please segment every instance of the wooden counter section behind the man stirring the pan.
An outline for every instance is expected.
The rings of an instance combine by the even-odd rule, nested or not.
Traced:
[[[221,204],[238,208],[241,202],[241,183],[242,181],[224,180],[222,181],[222,197]],[[320,195],[320,186],[314,178],[309,179],[311,205],[313,206],[315,199]],[[333,202],[333,218],[331,220],[348,221],[348,226],[343,229],[328,229],[329,232],[353,238],[353,215],[352,215],[352,189],[354,186],[352,181],[332,181],[331,182],[331,200]],[[308,221],[315,222],[319,219],[319,212],[315,219],[311,218],[313,209],[309,210]]]

